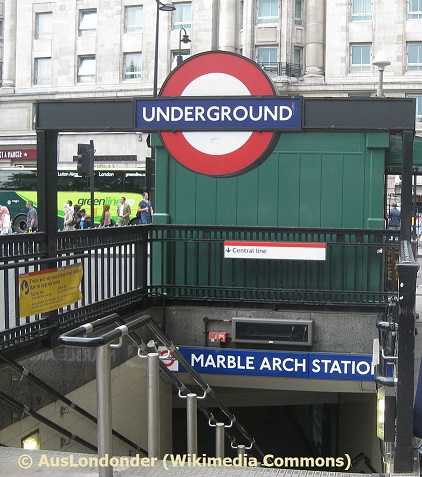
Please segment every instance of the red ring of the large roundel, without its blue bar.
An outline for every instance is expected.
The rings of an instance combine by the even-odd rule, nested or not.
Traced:
[[[238,79],[251,96],[274,96],[274,85],[253,61],[229,52],[200,53],[185,60],[168,76],[160,96],[181,96],[185,88],[200,76],[225,73]],[[255,167],[273,150],[278,134],[254,131],[238,149],[221,155],[207,154],[194,148],[183,132],[161,132],[167,151],[188,169],[210,176],[231,176]]]

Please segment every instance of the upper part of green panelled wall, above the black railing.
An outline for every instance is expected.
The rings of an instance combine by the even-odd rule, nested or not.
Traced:
[[[229,178],[191,172],[158,148],[155,221],[382,228],[388,139],[386,133],[284,133],[263,164]]]

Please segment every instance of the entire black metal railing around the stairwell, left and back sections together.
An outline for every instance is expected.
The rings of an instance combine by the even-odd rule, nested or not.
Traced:
[[[0,237],[0,349],[42,340],[102,314],[157,303],[380,307],[395,292],[398,231],[150,225]],[[322,261],[224,258],[228,240],[325,243]],[[50,251],[51,255],[51,251]],[[19,275],[80,263],[83,297],[20,317]],[[53,315],[53,318],[52,318]]]

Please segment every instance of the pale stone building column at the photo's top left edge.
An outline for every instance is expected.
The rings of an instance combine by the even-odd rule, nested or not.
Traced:
[[[5,0],[2,88],[14,88],[16,84],[16,27],[17,0]]]

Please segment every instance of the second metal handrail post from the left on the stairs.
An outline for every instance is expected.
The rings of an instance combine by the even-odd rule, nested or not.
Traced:
[[[160,457],[160,361],[148,353],[148,457]]]

